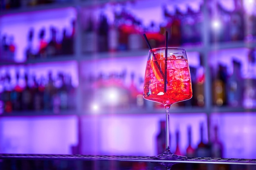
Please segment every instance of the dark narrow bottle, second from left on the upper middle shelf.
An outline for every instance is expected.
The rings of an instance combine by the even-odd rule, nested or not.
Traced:
[[[98,27],[98,51],[108,51],[108,19],[101,13]]]

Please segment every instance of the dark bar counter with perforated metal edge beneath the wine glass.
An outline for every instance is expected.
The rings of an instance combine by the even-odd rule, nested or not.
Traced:
[[[256,159],[0,154],[0,170],[256,170]]]

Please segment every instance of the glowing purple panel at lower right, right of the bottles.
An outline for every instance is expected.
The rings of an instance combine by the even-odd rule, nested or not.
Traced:
[[[255,113],[212,113],[213,126],[219,127],[219,139],[226,158],[256,159]]]

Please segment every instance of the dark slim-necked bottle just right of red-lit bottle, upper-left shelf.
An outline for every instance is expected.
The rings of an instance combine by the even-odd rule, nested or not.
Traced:
[[[54,27],[51,27],[50,32],[51,32],[51,40],[46,46],[47,57],[53,57],[58,54],[58,44],[56,41],[56,29]]]

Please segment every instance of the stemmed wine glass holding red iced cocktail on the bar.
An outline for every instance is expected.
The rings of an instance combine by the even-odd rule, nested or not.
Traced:
[[[192,86],[186,51],[181,48],[150,49],[144,79],[144,99],[166,108],[166,150],[160,159],[184,159],[170,151],[169,109],[171,104],[191,99]]]

